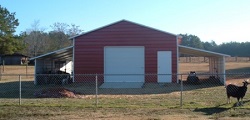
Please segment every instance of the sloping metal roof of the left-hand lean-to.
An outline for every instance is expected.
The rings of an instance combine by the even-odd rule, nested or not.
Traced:
[[[43,60],[72,60],[73,46],[49,52],[40,56],[31,58],[30,60],[43,59]]]

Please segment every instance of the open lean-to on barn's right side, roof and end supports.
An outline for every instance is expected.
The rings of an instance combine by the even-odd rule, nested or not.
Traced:
[[[230,55],[206,51],[202,49],[187,47],[178,45],[179,54],[186,54],[199,57],[208,57],[209,58],[209,74],[219,78],[221,83],[226,83],[225,75],[225,57],[230,57]]]

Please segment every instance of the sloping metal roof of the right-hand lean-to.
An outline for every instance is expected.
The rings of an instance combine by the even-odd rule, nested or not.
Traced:
[[[188,54],[202,57],[230,57],[230,55],[178,45],[180,54]]]

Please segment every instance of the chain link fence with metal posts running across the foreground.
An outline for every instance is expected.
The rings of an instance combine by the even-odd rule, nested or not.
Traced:
[[[172,83],[159,83],[158,78]],[[38,74],[0,75],[0,105],[196,108],[227,105],[226,84],[242,86],[250,74]],[[119,78],[119,79],[118,79]],[[143,78],[145,82],[131,79]],[[118,80],[115,82],[106,79]],[[249,91],[244,98],[250,106]],[[233,101],[236,102],[235,98]]]

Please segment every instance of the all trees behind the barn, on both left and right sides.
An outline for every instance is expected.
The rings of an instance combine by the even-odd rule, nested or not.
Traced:
[[[69,37],[81,34],[83,30],[75,24],[56,22],[50,26],[51,31],[45,31],[34,21],[30,29],[15,35],[19,25],[15,12],[11,13],[0,5],[0,55],[22,53],[34,57],[50,51],[72,45]],[[228,54],[231,56],[249,57],[250,42],[229,42],[217,45],[215,41],[203,42],[198,36],[180,34],[181,45]]]

